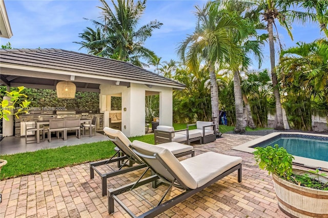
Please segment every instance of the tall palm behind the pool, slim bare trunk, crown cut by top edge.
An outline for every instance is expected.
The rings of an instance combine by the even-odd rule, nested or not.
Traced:
[[[271,63],[271,76],[273,92],[276,101],[276,125],[275,129],[284,130],[282,107],[279,94],[279,83],[276,71],[275,48],[274,48],[274,34],[273,26],[276,26],[275,20],[277,19],[282,27],[284,27],[290,37],[293,39],[291,32],[291,22],[294,20],[305,23],[308,18],[314,19],[314,14],[309,12],[301,12],[291,10],[291,7],[298,1],[291,0],[253,0],[257,6],[257,10],[262,14],[263,20],[267,22],[269,34],[269,47],[270,47],[270,63]]]

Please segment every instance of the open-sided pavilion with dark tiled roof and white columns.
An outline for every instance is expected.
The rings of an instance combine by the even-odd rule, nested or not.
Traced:
[[[121,130],[128,136],[145,135],[145,96],[159,95],[159,124],[172,126],[174,89],[185,85],[131,63],[61,49],[1,49],[1,85],[53,89],[60,81],[76,91],[99,93],[104,126],[110,113],[121,113]],[[111,111],[111,97],[121,97],[121,110]],[[6,127],[4,121],[4,129]]]

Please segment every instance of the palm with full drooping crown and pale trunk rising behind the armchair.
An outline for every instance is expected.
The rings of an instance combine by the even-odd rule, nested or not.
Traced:
[[[239,24],[233,16],[227,16],[229,12],[221,10],[220,1],[207,2],[203,8],[196,6],[197,25],[194,33],[180,43],[178,56],[190,66],[191,69],[199,69],[199,58],[202,58],[210,75],[212,120],[219,132],[219,103],[216,64],[229,61],[231,68],[237,68],[235,59],[240,57],[239,48],[233,43],[232,32],[238,30]],[[242,30],[242,29],[241,29]]]

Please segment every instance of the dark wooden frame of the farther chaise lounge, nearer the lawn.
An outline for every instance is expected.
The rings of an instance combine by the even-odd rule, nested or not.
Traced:
[[[123,173],[131,172],[147,166],[136,154],[134,154],[134,152],[128,147],[129,145],[126,145],[118,137],[111,137],[106,133],[104,135],[107,136],[107,138],[111,142],[113,142],[118,149],[110,159],[90,163],[90,179],[94,178],[94,171],[96,171],[101,178],[101,194],[103,196],[107,194],[107,178],[121,175]],[[175,157],[179,158],[187,155],[191,155],[191,157],[194,157],[195,150],[192,149],[186,152],[181,152],[180,154],[176,154]],[[110,163],[115,163],[115,162],[117,162],[118,169],[113,169],[108,165]],[[133,163],[137,163],[137,165],[132,166]],[[107,164],[112,171],[102,173],[96,168],[97,166],[104,165],[104,164]],[[122,167],[124,166],[128,166],[128,168],[122,169]]]

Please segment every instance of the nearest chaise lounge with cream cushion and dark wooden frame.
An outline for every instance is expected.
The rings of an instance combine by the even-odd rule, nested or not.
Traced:
[[[114,201],[116,201],[132,217],[154,217],[204,188],[209,187],[235,170],[238,170],[238,182],[241,182],[242,159],[240,157],[222,155],[209,151],[179,162],[168,149],[163,147],[153,146],[137,140],[133,141],[131,147],[135,154],[148,165],[147,170],[151,169],[155,175],[146,179],[141,179],[142,176],[145,175],[146,170],[137,182],[120,188],[108,189],[108,212],[110,214],[114,212]],[[159,200],[157,206],[154,206],[153,209],[139,216],[133,214],[133,212],[117,197],[120,193],[124,193],[158,179],[170,185],[168,190],[161,200]],[[162,203],[172,186],[186,191]],[[140,198],[142,199],[142,197]]]

